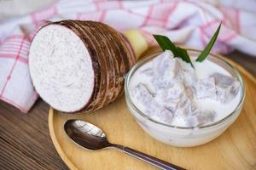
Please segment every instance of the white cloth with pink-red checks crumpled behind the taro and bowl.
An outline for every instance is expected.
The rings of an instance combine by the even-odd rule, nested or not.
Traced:
[[[152,33],[158,33],[195,48],[203,48],[222,21],[214,50],[228,53],[236,48],[256,55],[256,2],[252,0],[218,4],[189,0],[61,0],[51,8],[0,21],[0,99],[22,112],[30,110],[38,99],[27,65],[30,42],[42,20],[66,19],[98,20],[119,31],[138,28],[149,44],[155,43]]]

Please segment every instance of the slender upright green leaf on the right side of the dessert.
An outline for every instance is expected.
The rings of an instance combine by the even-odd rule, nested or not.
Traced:
[[[208,42],[207,47],[201,52],[201,54],[197,57],[197,59],[195,59],[195,61],[199,61],[202,62],[203,60],[205,60],[208,56],[208,54],[210,53],[214,42],[216,41],[217,37],[218,37],[218,31],[220,29],[221,23],[218,26],[218,29],[215,31],[215,33],[213,34],[210,42]]]

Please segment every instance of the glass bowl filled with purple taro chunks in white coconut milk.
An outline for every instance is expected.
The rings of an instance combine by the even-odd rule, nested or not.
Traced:
[[[170,51],[141,59],[125,77],[131,114],[149,135],[174,146],[195,146],[217,138],[241,112],[245,87],[224,59],[188,50],[194,68]]]

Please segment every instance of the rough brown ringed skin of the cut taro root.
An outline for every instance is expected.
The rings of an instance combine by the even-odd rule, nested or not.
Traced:
[[[90,20],[61,20],[49,25],[65,26],[75,32],[90,53],[95,85],[90,100],[79,111],[96,111],[123,94],[124,75],[136,62],[125,37],[106,24]]]

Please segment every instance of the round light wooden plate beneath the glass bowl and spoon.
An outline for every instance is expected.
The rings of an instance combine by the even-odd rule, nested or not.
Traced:
[[[81,119],[96,124],[107,133],[110,142],[124,144],[188,169],[256,169],[256,80],[240,65],[234,65],[246,83],[246,100],[231,127],[218,139],[192,148],[177,148],[151,138],[137,125],[125,105],[118,99],[91,114],[61,114],[49,110],[49,132],[55,148],[71,169],[155,169],[118,150],[84,150],[68,139],[63,124],[68,119]]]

